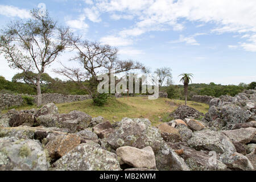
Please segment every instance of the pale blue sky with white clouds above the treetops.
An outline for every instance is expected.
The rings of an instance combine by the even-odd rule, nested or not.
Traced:
[[[152,71],[171,68],[175,84],[181,73],[193,73],[193,83],[256,81],[255,0],[1,0],[0,28],[30,18],[42,3],[82,39],[117,47],[120,59]],[[65,52],[59,61],[73,65],[71,56]],[[58,61],[46,72],[57,77],[57,67]],[[18,72],[0,56],[0,75],[11,80]]]

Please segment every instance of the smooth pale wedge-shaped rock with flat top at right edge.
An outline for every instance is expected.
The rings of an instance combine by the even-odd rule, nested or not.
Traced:
[[[253,127],[248,127],[246,129],[225,130],[221,132],[228,136],[232,142],[240,142],[242,144],[246,144],[251,142],[251,140],[254,138],[256,129]]]

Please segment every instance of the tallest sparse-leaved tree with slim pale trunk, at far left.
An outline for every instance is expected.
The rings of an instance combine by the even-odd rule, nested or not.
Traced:
[[[7,24],[1,31],[0,53],[11,68],[20,69],[32,84],[36,85],[38,100],[42,104],[40,80],[46,67],[69,45],[71,32],[67,27],[57,25],[48,12],[41,16],[39,10],[31,11],[26,22],[18,20]],[[28,73],[37,72],[36,80]]]

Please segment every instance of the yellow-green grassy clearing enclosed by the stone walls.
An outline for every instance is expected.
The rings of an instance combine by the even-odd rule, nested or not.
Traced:
[[[92,100],[85,100],[72,103],[57,104],[60,113],[69,113],[72,110],[79,110],[92,117],[102,117],[110,122],[121,121],[122,118],[148,118],[152,125],[158,125],[159,117],[163,122],[168,122],[168,113],[174,111],[184,101],[171,100],[168,98],[158,98],[158,100],[148,100],[147,97],[123,97],[110,98],[106,105],[100,107],[93,104]],[[202,113],[207,113],[209,105],[188,101],[191,106]],[[31,109],[35,106],[19,107],[18,109]],[[6,113],[7,110],[3,111]]]

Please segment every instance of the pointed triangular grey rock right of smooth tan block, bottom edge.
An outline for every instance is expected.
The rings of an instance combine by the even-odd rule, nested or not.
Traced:
[[[155,153],[156,168],[160,171],[190,171],[184,159],[180,158],[165,142]]]

